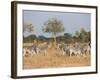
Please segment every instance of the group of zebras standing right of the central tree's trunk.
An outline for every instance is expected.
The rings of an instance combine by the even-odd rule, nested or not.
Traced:
[[[58,44],[58,50],[62,50],[63,55],[69,56],[86,56],[90,54],[91,47],[89,43],[75,43],[75,44]]]

